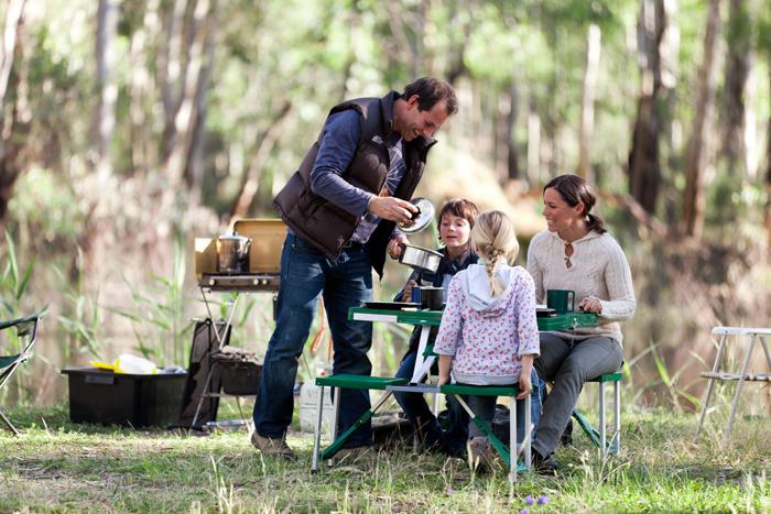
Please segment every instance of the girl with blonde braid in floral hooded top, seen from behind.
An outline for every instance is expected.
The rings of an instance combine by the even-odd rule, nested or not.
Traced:
[[[479,264],[471,264],[449,283],[447,306],[436,337],[439,384],[513,385],[517,396],[518,442],[524,438],[524,397],[537,383],[533,360],[539,354],[533,280],[522,266],[512,266],[519,253],[514,226],[503,212],[482,212],[471,230]],[[493,396],[469,396],[475,415],[492,422]],[[541,403],[532,397],[533,425]],[[490,444],[469,424],[468,459],[471,467],[487,459]]]

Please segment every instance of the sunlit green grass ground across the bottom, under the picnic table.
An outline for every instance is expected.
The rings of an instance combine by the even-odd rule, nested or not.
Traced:
[[[74,425],[65,408],[12,411],[21,437],[0,431],[0,512],[770,512],[768,418],[746,418],[723,441],[696,416],[625,413],[622,452],[601,461],[574,433],[558,478],[475,475],[460,460],[402,444],[312,474],[312,436],[297,462],[263,459],[246,433],[207,437]],[[577,430],[577,427],[576,427]]]

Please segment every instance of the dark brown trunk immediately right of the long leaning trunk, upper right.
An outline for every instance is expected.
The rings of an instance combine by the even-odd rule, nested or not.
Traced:
[[[728,19],[728,59],[726,62],[725,102],[723,106],[723,154],[728,173],[747,178],[747,145],[745,144],[745,89],[750,69],[751,25],[746,0],[730,0]]]

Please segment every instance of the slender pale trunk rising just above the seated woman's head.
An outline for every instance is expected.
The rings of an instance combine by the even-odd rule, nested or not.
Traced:
[[[594,182],[589,145],[595,128],[595,92],[597,88],[597,70],[599,68],[601,32],[599,26],[591,23],[586,34],[586,69],[584,73],[583,94],[580,99],[580,125],[578,127],[578,175]]]

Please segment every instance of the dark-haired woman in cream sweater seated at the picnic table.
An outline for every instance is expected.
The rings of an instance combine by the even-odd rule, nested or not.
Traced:
[[[569,289],[580,298],[578,308],[599,315],[596,327],[541,332],[535,370],[554,382],[543,403],[533,441],[533,463],[554,473],[552,458],[587,380],[618,371],[623,360],[619,321],[634,313],[632,275],[623,251],[590,214],[595,196],[576,175],[561,175],[543,189],[549,230],[537,233],[528,251],[528,271],[535,296],[544,303],[549,289]]]

